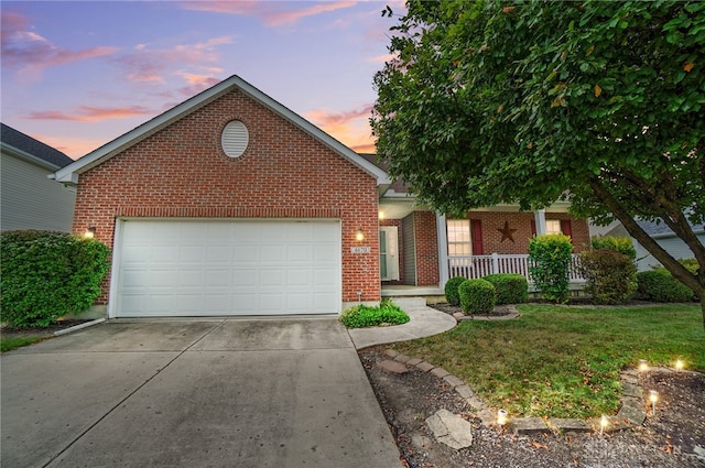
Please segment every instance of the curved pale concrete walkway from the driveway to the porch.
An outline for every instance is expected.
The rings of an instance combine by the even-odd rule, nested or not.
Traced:
[[[411,320],[393,327],[349,329],[356,349],[437,335],[457,325],[448,314],[426,306],[423,297],[395,297],[393,301],[409,314]]]

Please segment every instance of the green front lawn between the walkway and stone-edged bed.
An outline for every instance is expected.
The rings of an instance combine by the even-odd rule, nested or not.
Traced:
[[[518,308],[514,320],[463,322],[394,349],[443,367],[514,416],[615,414],[619,372],[639,359],[705,371],[699,305]]]

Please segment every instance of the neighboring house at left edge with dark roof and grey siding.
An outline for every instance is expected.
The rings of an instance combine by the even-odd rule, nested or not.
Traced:
[[[0,123],[0,229],[72,230],[76,191],[48,178],[74,160]]]

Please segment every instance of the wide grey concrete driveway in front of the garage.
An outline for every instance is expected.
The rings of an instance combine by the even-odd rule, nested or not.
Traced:
[[[399,467],[332,318],[112,320],[1,357],[2,467]]]

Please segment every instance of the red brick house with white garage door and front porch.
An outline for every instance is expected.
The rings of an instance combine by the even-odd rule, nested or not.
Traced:
[[[55,178],[77,187],[74,232],[112,248],[109,317],[338,314],[382,282],[438,290],[453,257],[525,254],[534,224],[587,242],[563,206],[473,211],[446,231],[370,157],[238,76]]]

